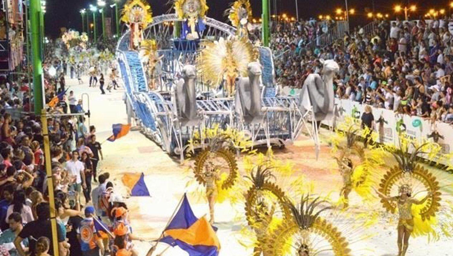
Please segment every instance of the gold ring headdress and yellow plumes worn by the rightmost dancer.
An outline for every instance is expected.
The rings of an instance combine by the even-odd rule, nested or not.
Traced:
[[[428,200],[421,205],[412,205],[412,215],[414,217],[414,230],[412,234],[434,235],[437,237],[434,226],[439,225],[436,214],[440,211],[441,195],[439,181],[434,172],[424,168],[418,163],[418,158],[424,157],[434,159],[440,152],[439,144],[432,142],[418,143],[415,139],[407,135],[400,135],[399,147],[388,150],[393,154],[397,164],[381,178],[379,191],[390,197],[390,193],[407,192],[412,196],[419,193],[428,195]],[[385,209],[395,213],[397,205],[395,202],[382,199],[381,203]]]

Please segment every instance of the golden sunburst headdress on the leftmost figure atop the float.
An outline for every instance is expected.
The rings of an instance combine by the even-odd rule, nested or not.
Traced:
[[[153,22],[153,12],[151,6],[145,0],[129,0],[121,10],[121,21],[133,23],[131,17],[140,17],[140,23],[146,27]]]

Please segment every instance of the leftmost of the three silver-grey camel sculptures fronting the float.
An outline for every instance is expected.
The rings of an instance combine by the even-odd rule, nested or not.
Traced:
[[[181,126],[198,125],[200,118],[197,112],[195,81],[197,71],[195,66],[186,65],[183,68],[183,78],[179,79],[175,90],[176,109]]]

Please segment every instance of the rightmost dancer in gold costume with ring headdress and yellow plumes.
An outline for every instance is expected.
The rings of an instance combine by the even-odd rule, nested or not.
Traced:
[[[398,210],[398,256],[405,256],[411,235],[439,237],[440,231],[448,237],[450,235],[443,227],[451,223],[447,223],[448,218],[439,218],[441,203],[446,202],[441,199],[439,177],[435,170],[417,163],[417,158],[422,155],[439,157],[440,146],[431,142],[419,143],[406,135],[401,135],[399,141],[398,148],[388,147],[398,164],[381,177],[378,189],[373,189],[387,211],[395,213]],[[392,196],[394,191],[399,195]],[[436,225],[439,228],[435,228]]]

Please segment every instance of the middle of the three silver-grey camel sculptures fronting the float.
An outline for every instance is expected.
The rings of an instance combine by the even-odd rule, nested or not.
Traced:
[[[247,124],[261,123],[264,118],[261,112],[261,64],[251,62],[247,70],[248,78],[236,79],[236,113],[242,116]]]

